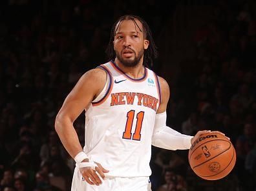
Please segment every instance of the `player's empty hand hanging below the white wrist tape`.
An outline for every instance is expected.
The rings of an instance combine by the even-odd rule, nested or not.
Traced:
[[[88,159],[85,159],[83,162],[88,162]],[[94,162],[96,163],[96,162]],[[98,176],[98,174],[100,174],[102,179],[105,179],[105,174],[109,172],[109,170],[106,170],[105,168],[103,168],[100,163],[96,163],[96,167],[95,170],[92,169],[92,167],[84,167],[84,168],[80,168],[80,172],[81,172],[81,176],[83,176],[83,178],[85,179],[85,181],[87,181],[87,183],[89,183],[90,185],[101,185],[102,181],[100,179],[100,177]],[[98,172],[98,174],[96,174],[96,172]]]

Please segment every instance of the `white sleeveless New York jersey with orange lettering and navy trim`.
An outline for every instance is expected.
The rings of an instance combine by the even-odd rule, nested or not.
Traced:
[[[145,68],[142,78],[133,79],[113,61],[99,67],[109,83],[85,112],[84,151],[109,170],[106,176],[150,176],[151,137],[160,105],[158,78]]]

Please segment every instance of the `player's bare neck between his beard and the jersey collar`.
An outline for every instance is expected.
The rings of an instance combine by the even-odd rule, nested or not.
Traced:
[[[143,66],[143,58],[140,60],[138,65],[134,67],[127,67],[123,65],[117,58],[114,59],[114,63],[125,72],[125,74],[129,75],[129,77],[132,77],[133,79],[140,79],[144,76],[144,66]]]

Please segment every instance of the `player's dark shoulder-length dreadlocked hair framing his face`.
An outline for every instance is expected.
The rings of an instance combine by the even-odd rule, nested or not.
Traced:
[[[139,28],[139,30],[142,32],[142,29],[138,26],[135,19],[137,19],[138,21],[140,21],[140,23],[142,23],[144,38],[149,41],[149,47],[146,50],[144,50],[143,65],[147,66],[147,67],[152,67],[153,59],[155,59],[158,55],[157,50],[156,50],[156,45],[153,40],[149,25],[147,25],[147,23],[144,21],[144,19],[142,19],[141,17],[138,17],[136,15],[123,15],[116,21],[116,23],[114,23],[114,25],[112,26],[112,29],[111,29],[111,37],[109,39],[109,45],[107,45],[106,54],[109,57],[109,59],[115,59],[116,52],[114,51],[114,45],[113,45],[114,36],[116,35],[116,30],[118,29],[120,23],[122,23],[123,20],[133,21],[134,25],[136,25]],[[118,26],[116,27],[116,25],[118,25]]]

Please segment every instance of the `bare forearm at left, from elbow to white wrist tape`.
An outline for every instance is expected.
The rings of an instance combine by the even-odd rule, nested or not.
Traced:
[[[56,117],[55,130],[61,143],[73,159],[79,152],[83,151],[78,134],[76,134],[76,130],[69,117]]]

